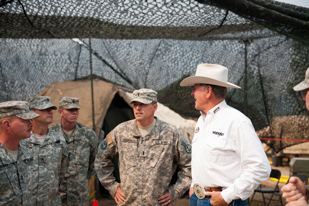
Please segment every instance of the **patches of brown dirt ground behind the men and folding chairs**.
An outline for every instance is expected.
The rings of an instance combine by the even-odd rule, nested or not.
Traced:
[[[289,166],[281,166],[281,167],[274,167],[272,166],[272,169],[278,169],[280,170],[281,172],[281,176],[290,176],[290,167]],[[276,182],[272,181],[272,180],[267,180],[265,181],[266,184],[269,184],[269,185],[275,185]],[[279,187],[281,188],[282,186],[284,186],[285,183],[281,183],[279,182]],[[251,199],[251,197],[250,197]],[[254,195],[254,199],[257,199],[257,200],[262,200],[263,201],[263,198],[262,198],[262,195],[260,193],[257,193],[256,195]],[[271,202],[270,206],[274,206],[276,205],[276,200],[278,199],[278,196],[275,196],[273,199],[275,199],[274,201]],[[286,201],[284,199],[282,199],[283,201],[283,205],[286,204]],[[114,199],[111,199],[111,197],[109,198],[99,198],[98,199],[98,204],[99,206],[116,206],[116,202]],[[93,205],[93,202],[91,202],[89,204],[89,206],[92,206]],[[179,200],[177,200],[174,204],[174,206],[189,206],[190,205],[190,200],[188,198],[181,198]],[[280,205],[280,203],[278,204]],[[257,202],[257,201],[253,201],[251,203],[250,206],[264,206],[263,202]]]

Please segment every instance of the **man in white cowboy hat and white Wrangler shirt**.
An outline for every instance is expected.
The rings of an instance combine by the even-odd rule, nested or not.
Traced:
[[[221,65],[200,64],[195,76],[180,83],[194,85],[191,95],[201,112],[192,140],[191,206],[246,205],[271,171],[250,119],[224,100],[226,87],[240,89],[227,82],[227,72]]]

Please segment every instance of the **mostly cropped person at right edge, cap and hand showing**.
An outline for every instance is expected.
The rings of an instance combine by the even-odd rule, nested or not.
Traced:
[[[309,111],[309,68],[306,71],[305,80],[293,88],[306,102]],[[290,177],[289,183],[281,188],[282,197],[286,199],[286,206],[308,206],[309,204],[309,186],[305,186],[297,177]]]

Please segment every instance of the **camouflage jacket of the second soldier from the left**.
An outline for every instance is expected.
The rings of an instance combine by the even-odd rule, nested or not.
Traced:
[[[48,130],[41,144],[31,132],[31,137],[20,141],[34,158],[33,179],[30,186],[31,205],[61,205],[59,185],[66,184],[64,176],[69,164],[69,150],[64,137]]]

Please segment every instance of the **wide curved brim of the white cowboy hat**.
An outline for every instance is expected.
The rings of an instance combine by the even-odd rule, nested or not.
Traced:
[[[183,81],[180,82],[180,86],[192,86],[194,84],[212,84],[212,85],[224,86],[228,88],[241,89],[241,87],[235,84],[232,84],[230,82],[225,83],[225,82],[214,80],[208,77],[200,77],[200,76],[187,77]]]

